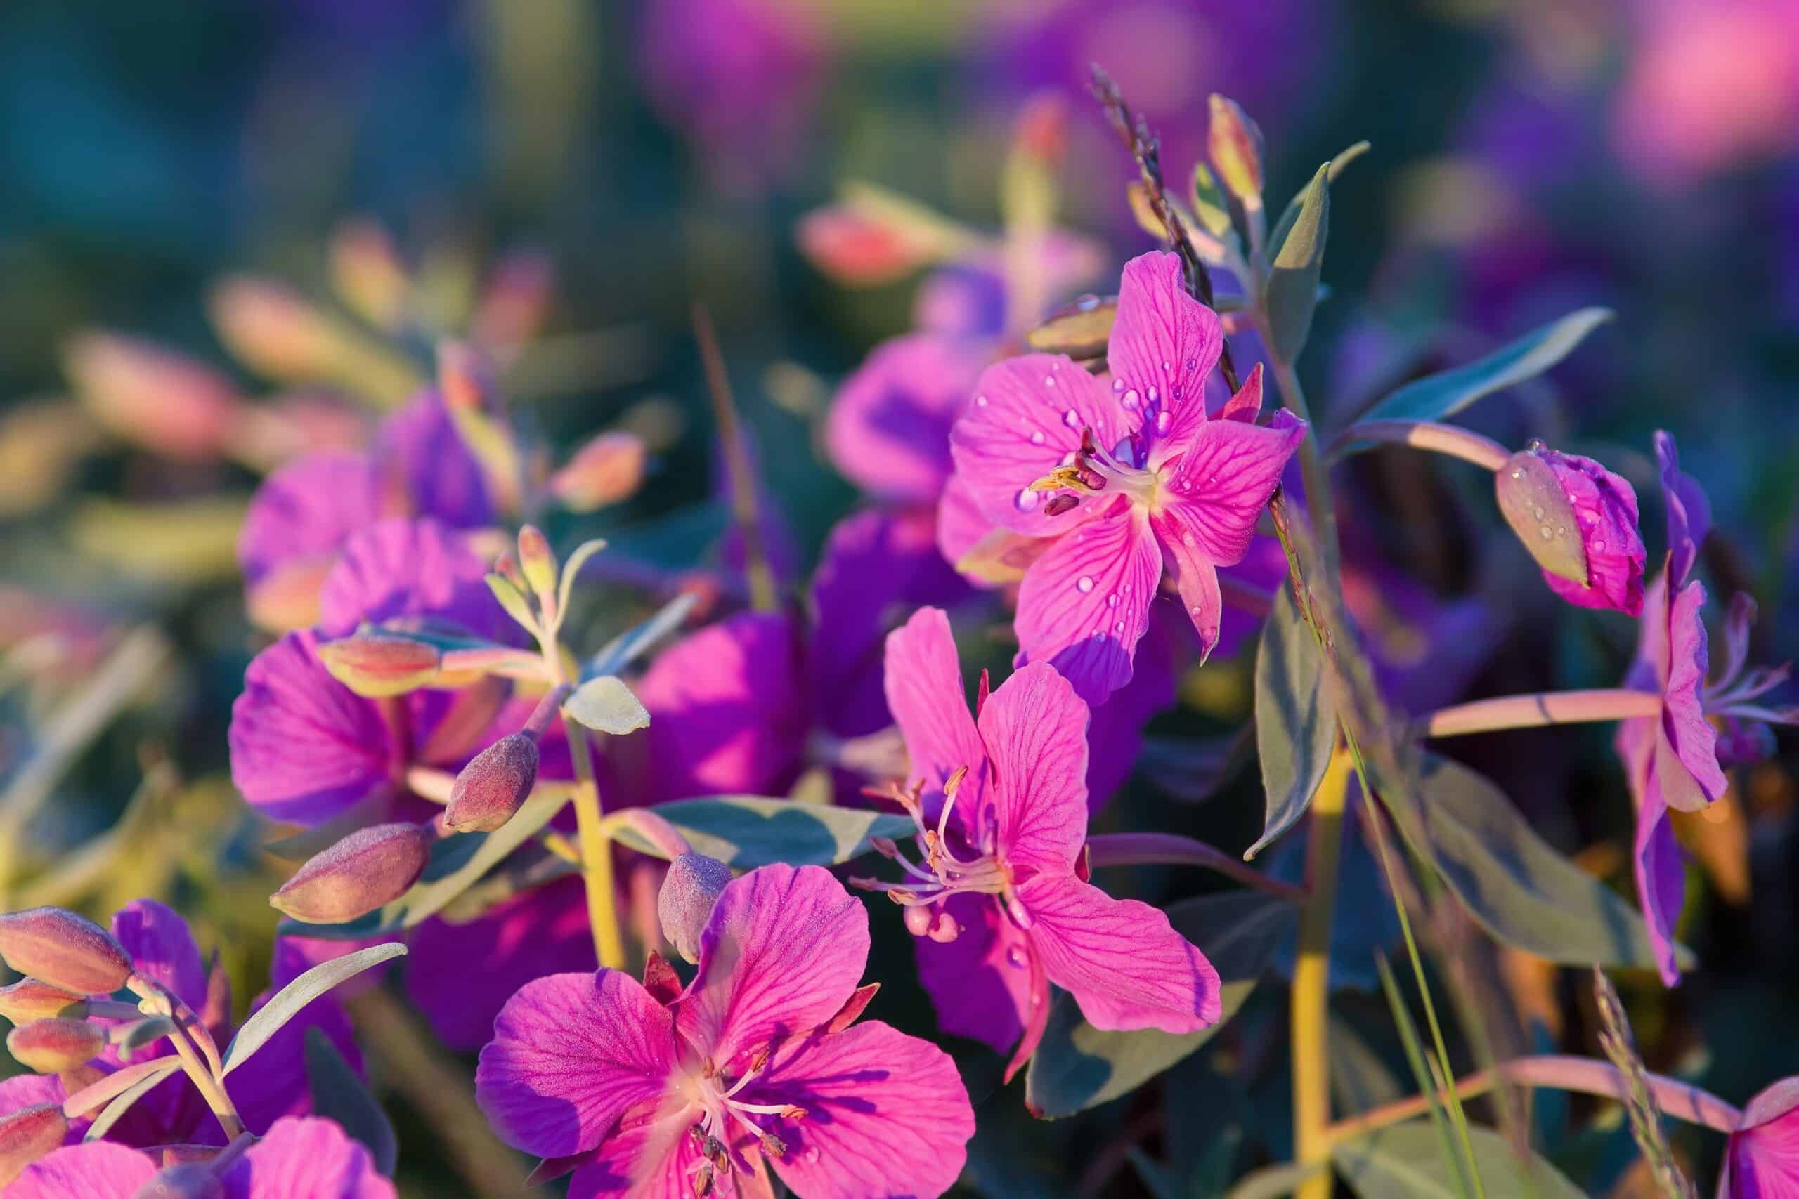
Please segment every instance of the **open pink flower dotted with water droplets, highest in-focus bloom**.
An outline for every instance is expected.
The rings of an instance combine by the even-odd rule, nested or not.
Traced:
[[[1249,552],[1256,518],[1304,426],[1256,424],[1256,370],[1205,415],[1218,315],[1187,295],[1180,259],[1124,266],[1106,361],[1110,386],[1060,354],[1027,354],[980,376],[955,422],[955,475],[980,516],[1054,537],[1018,591],[1018,662],[1049,662],[1088,703],[1130,681],[1164,568],[1202,654],[1218,644],[1218,566]]]

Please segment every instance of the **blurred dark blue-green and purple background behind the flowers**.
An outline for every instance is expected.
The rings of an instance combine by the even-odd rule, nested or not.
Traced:
[[[264,969],[270,866],[225,773],[230,701],[263,644],[234,557],[243,509],[299,448],[362,444],[372,415],[432,377],[439,336],[493,347],[515,419],[547,444],[639,431],[653,451],[642,489],[552,532],[597,528],[684,568],[720,528],[691,316],[707,306],[804,570],[856,503],[820,451],[820,417],[844,374],[910,327],[919,271],[858,268],[828,228],[801,237],[802,218],[862,182],[997,230],[1007,153],[1033,113],[1052,113],[1056,219],[1092,239],[1101,268],[1051,298],[1110,289],[1153,243],[1124,201],[1133,167],[1087,95],[1092,61],[1162,137],[1171,180],[1204,151],[1211,92],[1261,124],[1277,201],[1333,153],[1373,144],[1333,189],[1331,295],[1301,363],[1326,424],[1574,307],[1616,309],[1553,381],[1468,422],[1605,458],[1646,498],[1646,530],[1650,433],[1673,430],[1714,505],[1716,593],[1761,602],[1758,660],[1799,654],[1792,0],[9,0],[9,906],[104,913],[157,893],[243,976]],[[333,351],[308,358],[308,338]],[[1378,453],[1342,484],[1367,555],[1428,602],[1486,600],[1470,694],[1614,685],[1633,627],[1556,606],[1517,555],[1495,568],[1461,467]],[[1513,588],[1508,572],[1529,577]],[[1407,665],[1454,649],[1403,636],[1407,606],[1391,606]],[[1162,827],[1173,802],[1220,845],[1254,838],[1254,771],[1205,805],[1182,805],[1195,796],[1169,778],[1191,766],[1184,741],[1238,723],[1247,665],[1186,681],[1155,724],[1160,778],[1133,784],[1121,822]],[[1716,820],[1680,827],[1700,866],[1682,933],[1704,969],[1669,994],[1626,985],[1651,1068],[1734,1102],[1799,1070],[1786,750],[1740,771]],[[1607,730],[1457,751],[1560,848],[1628,884]],[[108,829],[130,852],[76,852]],[[1518,983],[1551,1044],[1580,1044],[1574,990],[1553,973]],[[1256,1102],[1229,1111],[1254,1125]],[[1087,1118],[1092,1143],[1162,1132],[1114,1109]],[[399,1118],[403,1141],[430,1136]],[[982,1136],[977,1174],[1007,1179],[989,1194],[1141,1194],[1121,1152],[1085,1177],[1049,1125]],[[1587,1177],[1628,1186],[1624,1161]],[[455,1194],[407,1168],[423,1170],[403,1179],[412,1194]]]

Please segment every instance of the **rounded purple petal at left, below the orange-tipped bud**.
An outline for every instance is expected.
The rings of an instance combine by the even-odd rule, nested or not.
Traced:
[[[250,662],[230,710],[230,777],[270,820],[320,825],[387,782],[380,708],[326,674],[311,631]]]

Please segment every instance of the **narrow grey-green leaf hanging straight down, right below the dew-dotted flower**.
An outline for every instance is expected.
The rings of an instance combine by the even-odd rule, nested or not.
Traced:
[[[1337,699],[1324,683],[1324,653],[1283,586],[1256,651],[1256,751],[1268,814],[1245,861],[1306,813],[1335,748]]]

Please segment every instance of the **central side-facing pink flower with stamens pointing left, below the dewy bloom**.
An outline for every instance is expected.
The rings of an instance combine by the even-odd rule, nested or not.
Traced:
[[[986,687],[982,687],[986,692]],[[903,883],[858,881],[905,908],[919,976],[944,1032],[1036,1050],[1049,983],[1096,1028],[1193,1032],[1218,1019],[1218,973],[1132,899],[1083,877],[1087,705],[1056,671],[1016,671],[977,717],[950,622],[919,609],[887,638],[887,701],[923,782],[892,789],[917,823],[923,865],[885,847]]]

